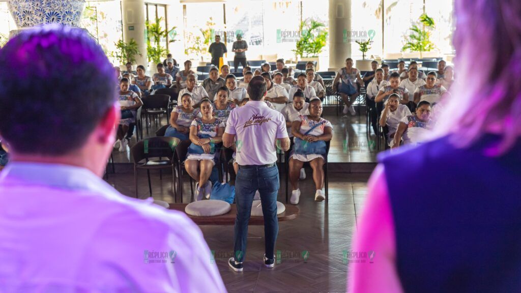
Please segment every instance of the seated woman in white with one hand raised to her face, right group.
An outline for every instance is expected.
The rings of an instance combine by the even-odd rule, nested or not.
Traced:
[[[411,116],[411,111],[405,105],[400,104],[400,96],[398,94],[391,94],[387,100],[386,107],[380,114],[379,124],[381,127],[387,126],[386,140],[391,148],[394,145],[394,135],[398,129],[400,121],[404,117]]]

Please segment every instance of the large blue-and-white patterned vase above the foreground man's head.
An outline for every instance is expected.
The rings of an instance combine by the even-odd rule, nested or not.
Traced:
[[[7,0],[18,29],[46,23],[78,27],[84,0]]]

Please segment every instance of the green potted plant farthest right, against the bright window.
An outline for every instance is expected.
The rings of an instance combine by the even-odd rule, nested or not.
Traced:
[[[430,41],[430,34],[434,27],[434,19],[425,13],[422,14],[418,23],[411,27],[411,33],[406,36],[402,52],[405,50],[419,52],[420,58],[423,58],[423,52],[429,52],[435,48],[434,43]]]

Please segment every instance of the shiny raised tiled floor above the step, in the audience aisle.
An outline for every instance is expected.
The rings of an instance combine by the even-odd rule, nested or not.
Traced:
[[[333,139],[329,150],[330,163],[359,163],[359,162],[376,162],[377,151],[376,143],[372,143],[367,139],[366,117],[361,116],[337,116],[325,115],[333,125]],[[166,125],[166,119],[163,119],[162,125]],[[159,126],[152,126],[149,132],[143,130],[144,136],[155,136],[155,130]],[[374,139],[374,138],[373,138]],[[132,137],[130,146],[135,143],[135,136]],[[130,152],[113,152],[114,161],[116,163],[130,162]]]

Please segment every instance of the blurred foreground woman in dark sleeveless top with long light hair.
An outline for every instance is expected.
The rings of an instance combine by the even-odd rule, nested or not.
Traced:
[[[455,13],[455,98],[432,141],[379,158],[353,243],[371,253],[349,292],[521,288],[521,3],[456,0]],[[491,70],[476,70],[483,56]]]

